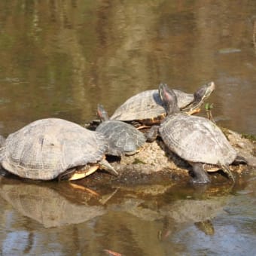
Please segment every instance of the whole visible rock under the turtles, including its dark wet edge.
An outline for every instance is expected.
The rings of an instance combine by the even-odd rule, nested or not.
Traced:
[[[231,145],[236,148],[239,156],[248,161],[247,164],[231,165],[230,169],[236,176],[236,184],[239,177],[252,173],[256,166],[256,142],[246,139],[239,133],[223,129]],[[186,184],[191,180],[191,166],[177,155],[169,151],[160,138],[155,142],[146,143],[139,153],[133,156],[121,158],[108,157],[111,165],[120,173],[118,177],[108,175],[106,172],[96,172],[81,181],[85,186],[98,184],[111,184],[114,187],[138,186],[138,184]],[[214,184],[230,184],[231,182],[223,175],[223,172],[211,172],[210,178]]]

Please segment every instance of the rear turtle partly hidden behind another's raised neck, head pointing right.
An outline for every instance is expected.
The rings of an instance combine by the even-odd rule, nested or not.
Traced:
[[[178,99],[178,108],[187,114],[194,114],[200,110],[203,101],[211,95],[214,89],[215,84],[209,82],[201,86],[194,94],[184,93],[181,90],[173,91]],[[160,99],[158,90],[145,90],[127,99],[114,111],[110,120],[130,122],[139,128],[144,128],[145,126],[160,124],[165,116],[165,106]]]

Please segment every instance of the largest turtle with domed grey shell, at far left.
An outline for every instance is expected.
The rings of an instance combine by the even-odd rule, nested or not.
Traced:
[[[35,120],[12,133],[0,150],[0,163],[21,178],[75,180],[102,167],[118,173],[105,160],[108,140],[101,133],[59,118]]]

